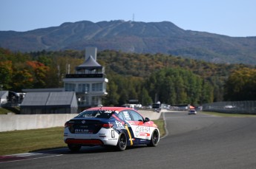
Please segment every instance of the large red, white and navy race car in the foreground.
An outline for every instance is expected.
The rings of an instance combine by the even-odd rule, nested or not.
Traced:
[[[132,145],[155,147],[159,141],[157,125],[133,108],[89,108],[65,123],[64,142],[70,151],[87,145],[111,145],[124,151]]]

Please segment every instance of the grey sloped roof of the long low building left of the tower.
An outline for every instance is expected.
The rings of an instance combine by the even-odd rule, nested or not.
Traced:
[[[28,92],[21,106],[68,106],[73,100],[76,100],[75,92]]]

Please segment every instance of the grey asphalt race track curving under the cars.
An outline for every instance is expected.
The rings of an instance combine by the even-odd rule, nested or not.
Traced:
[[[168,135],[156,148],[86,147],[0,156],[0,168],[256,168],[256,118],[164,114]]]

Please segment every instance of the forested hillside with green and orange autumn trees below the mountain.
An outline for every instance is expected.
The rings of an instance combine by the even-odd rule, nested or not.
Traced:
[[[4,90],[63,87],[62,77],[84,61],[85,51],[11,52],[0,49],[0,78]],[[130,99],[143,105],[200,105],[222,100],[240,100],[240,92],[256,100],[255,67],[196,61],[163,54],[138,54],[105,50],[97,54],[109,79],[105,105],[122,105]],[[243,77],[242,81],[234,77]],[[245,76],[243,76],[245,75]],[[250,79],[250,80],[248,80]],[[241,82],[241,83],[240,83]],[[248,82],[245,86],[244,82]],[[229,87],[232,86],[232,87]],[[235,96],[234,97],[234,91]],[[248,93],[248,94],[249,94]]]

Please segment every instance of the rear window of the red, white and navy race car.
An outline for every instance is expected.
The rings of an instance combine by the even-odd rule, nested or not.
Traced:
[[[94,118],[110,118],[114,111],[105,110],[93,110],[93,111],[82,111],[77,117],[94,117]]]

